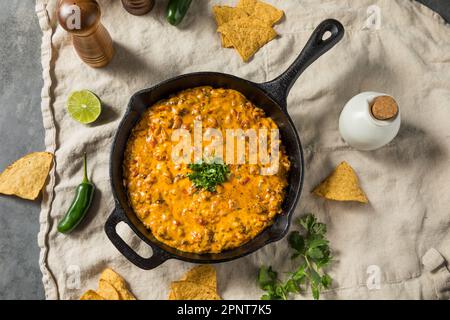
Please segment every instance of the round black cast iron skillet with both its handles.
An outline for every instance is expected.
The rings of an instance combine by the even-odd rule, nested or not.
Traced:
[[[111,151],[110,176],[116,207],[106,221],[105,231],[116,248],[136,266],[149,270],[156,268],[168,259],[179,259],[203,264],[230,261],[248,255],[271,242],[283,238],[288,232],[291,217],[303,185],[303,151],[300,138],[287,112],[287,96],[300,74],[321,55],[334,47],[343,36],[344,27],[340,22],[332,19],[322,22],[313,32],[306,47],[295,62],[282,75],[267,83],[257,84],[232,75],[216,72],[199,72],[178,76],[133,95],[116,133]],[[282,143],[286,147],[292,164],[289,174],[289,186],[283,203],[283,214],[275,219],[272,226],[250,242],[217,254],[181,252],[159,242],[144,227],[129,206],[122,178],[125,146],[132,128],[140,119],[142,113],[157,101],[167,98],[171,94],[198,86],[237,90],[243,93],[256,106],[264,109],[266,115],[270,116],[277,123]],[[151,257],[143,258],[138,255],[117,234],[116,226],[122,221],[127,223],[144,242],[151,246],[153,250]]]

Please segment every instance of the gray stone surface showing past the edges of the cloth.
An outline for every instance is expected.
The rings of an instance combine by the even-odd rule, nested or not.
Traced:
[[[450,21],[450,2],[421,0]],[[40,113],[41,32],[34,0],[0,0],[0,170],[44,149]],[[39,201],[0,196],[0,299],[43,299]]]

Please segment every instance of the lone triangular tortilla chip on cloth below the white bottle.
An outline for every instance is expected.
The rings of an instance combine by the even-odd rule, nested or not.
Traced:
[[[329,200],[369,202],[359,186],[355,171],[347,162],[337,166],[334,172],[313,190],[313,193]]]

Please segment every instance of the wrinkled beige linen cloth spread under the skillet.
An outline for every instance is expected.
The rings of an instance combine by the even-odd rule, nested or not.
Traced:
[[[194,1],[179,28],[165,21],[167,1],[156,1],[143,17],[128,14],[118,0],[99,2],[116,49],[114,60],[103,69],[92,69],[77,57],[69,35],[57,25],[56,1],[37,0],[36,5],[43,31],[45,142],[56,155],[38,236],[48,299],[77,299],[85,290],[96,289],[105,267],[122,274],[139,299],[166,299],[170,282],[192,267],[169,260],[154,270],[140,270],[103,231],[114,208],[110,147],[130,96],[196,71],[271,80],[326,18],[344,24],[345,38],[301,76],[288,100],[306,159],[295,215],[313,212],[327,223],[335,257],[329,270],[333,288],[323,298],[450,297],[450,27],[439,15],[410,0],[267,0],[286,13],[275,27],[280,36],[243,63],[235,50],[221,47],[211,12],[214,4],[236,1]],[[65,101],[77,89],[89,89],[102,99],[103,114],[94,125],[80,125],[66,111]],[[352,149],[338,132],[343,106],[362,91],[393,95],[402,112],[398,137],[374,152]],[[56,225],[81,181],[84,151],[97,193],[89,217],[66,236]],[[369,205],[330,202],[310,193],[344,160],[358,173]],[[146,251],[128,229],[121,226],[121,234],[139,252]],[[224,299],[258,299],[259,266],[290,271],[294,265],[289,257],[284,239],[216,265],[220,294]]]

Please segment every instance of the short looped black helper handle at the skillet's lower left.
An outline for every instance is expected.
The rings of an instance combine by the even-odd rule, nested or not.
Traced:
[[[129,225],[125,212],[116,207],[106,221],[105,232],[117,250],[119,250],[119,252],[123,254],[130,262],[141,269],[151,270],[161,265],[164,261],[170,259],[165,252],[150,243],[149,245],[152,247],[153,251],[152,256],[150,258],[141,257],[117,234],[116,226],[120,222],[125,222]]]

